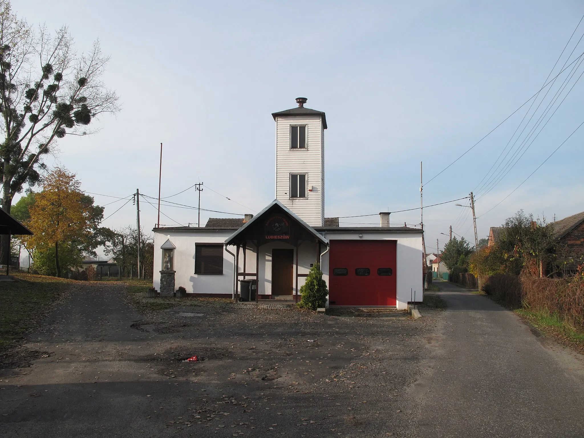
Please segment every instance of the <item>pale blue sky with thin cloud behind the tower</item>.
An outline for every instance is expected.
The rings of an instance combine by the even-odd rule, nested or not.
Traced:
[[[326,112],[331,217],[419,206],[420,161],[427,181],[534,95],[584,14],[576,1],[15,1],[13,9],[29,23],[69,25],[78,51],[99,38],[111,55],[105,80],[123,110],[101,117],[98,134],[64,139],[47,161],[77,173],[88,192],[126,197],[138,187],[157,196],[163,142],[163,197],[201,181],[209,187],[201,207],[259,211],[274,197],[270,113],[304,96],[307,107]],[[568,50],[582,33],[584,22]],[[572,58],[583,51],[581,42]],[[512,171],[478,197],[479,238],[520,208],[548,221],[584,210],[583,127],[488,211],[584,121],[583,86],[574,86]],[[476,189],[523,115],[425,185],[424,204]],[[194,206],[197,193],[169,200]],[[106,216],[124,202],[106,206]],[[143,201],[141,210],[150,229],[156,210]],[[164,224],[197,221],[194,210],[162,211]],[[449,225],[474,241],[468,213],[454,204],[427,208],[428,251],[436,238],[442,248]],[[209,215],[222,216],[201,212],[201,223]],[[134,221],[130,201],[104,225]],[[392,223],[419,221],[419,210],[391,215]]]

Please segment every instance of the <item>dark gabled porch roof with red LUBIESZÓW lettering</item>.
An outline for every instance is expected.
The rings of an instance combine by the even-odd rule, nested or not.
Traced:
[[[276,228],[282,227],[282,234],[278,235],[273,229],[274,226]],[[292,213],[280,201],[274,199],[243,227],[235,231],[225,241],[225,244],[241,245],[246,241],[256,241],[259,245],[263,245],[267,242],[284,241],[296,246],[298,241],[303,240],[321,242],[324,245],[328,245],[328,240],[315,231],[314,228]]]

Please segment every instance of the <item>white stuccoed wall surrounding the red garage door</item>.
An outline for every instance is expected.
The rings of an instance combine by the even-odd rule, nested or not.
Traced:
[[[408,308],[411,301],[411,290],[416,291],[416,301],[423,299],[422,279],[422,234],[421,233],[381,233],[381,232],[325,232],[325,238],[360,240],[395,240],[397,241],[397,308]],[[326,253],[322,257],[322,278],[329,284],[329,257]]]

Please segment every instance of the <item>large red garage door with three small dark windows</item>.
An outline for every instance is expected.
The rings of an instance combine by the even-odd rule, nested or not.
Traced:
[[[331,240],[329,305],[396,305],[392,240]]]

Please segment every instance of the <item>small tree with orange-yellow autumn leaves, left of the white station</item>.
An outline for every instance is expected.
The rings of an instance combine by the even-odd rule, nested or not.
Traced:
[[[29,250],[50,249],[57,276],[61,276],[59,250],[67,252],[71,242],[91,236],[92,207],[82,202],[81,183],[74,173],[55,168],[43,180],[43,190],[34,196],[26,226],[34,234],[25,239]],[[46,251],[45,251],[46,252]]]

